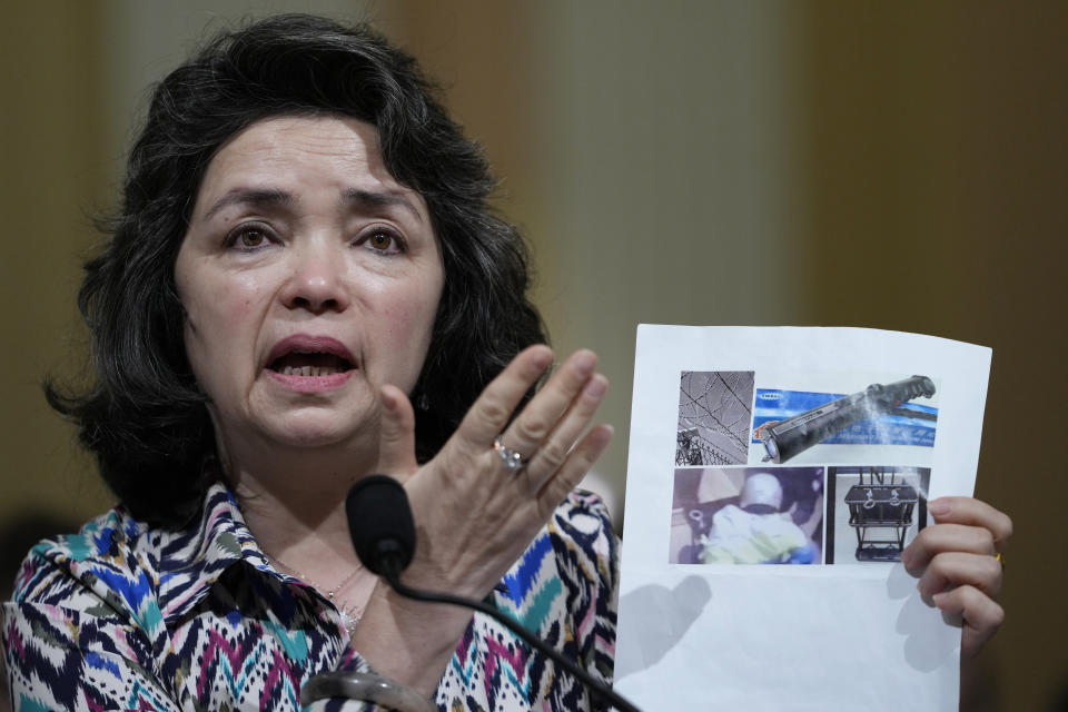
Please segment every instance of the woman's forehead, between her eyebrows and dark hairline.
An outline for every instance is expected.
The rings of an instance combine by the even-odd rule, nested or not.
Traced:
[[[246,127],[211,158],[194,214],[202,216],[212,198],[236,187],[266,185],[400,192],[426,209],[417,192],[389,175],[375,127],[350,117],[279,116]]]

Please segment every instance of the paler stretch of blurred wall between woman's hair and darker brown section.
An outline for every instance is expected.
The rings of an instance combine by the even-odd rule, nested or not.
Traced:
[[[782,72],[792,13],[734,2],[409,7],[398,37],[435,68],[503,177],[554,345],[594,348],[612,383],[602,414],[616,437],[587,486],[619,520],[636,325],[803,314],[789,268],[800,247],[789,239],[798,132]]]

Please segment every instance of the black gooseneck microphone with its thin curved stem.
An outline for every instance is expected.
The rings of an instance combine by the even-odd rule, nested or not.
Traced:
[[[415,552],[415,523],[408,495],[399,482],[386,475],[368,475],[362,478],[348,492],[345,513],[359,561],[368,571],[383,576],[394,591],[416,601],[448,603],[485,613],[577,678],[595,698],[609,702],[622,712],[639,712],[636,706],[594,680],[590,673],[551,649],[506,613],[482,601],[448,593],[418,591],[400,583],[400,572],[412,562]]]

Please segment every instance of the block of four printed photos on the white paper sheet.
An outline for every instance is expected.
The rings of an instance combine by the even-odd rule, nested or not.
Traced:
[[[938,379],[683,372],[669,562],[897,562],[927,526]]]

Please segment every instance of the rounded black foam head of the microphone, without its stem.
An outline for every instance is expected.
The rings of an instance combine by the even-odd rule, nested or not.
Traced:
[[[415,522],[408,495],[387,475],[368,475],[345,498],[348,533],[356,555],[368,571],[383,574],[385,555],[395,556],[403,571],[415,552]]]

